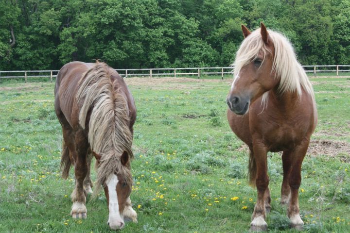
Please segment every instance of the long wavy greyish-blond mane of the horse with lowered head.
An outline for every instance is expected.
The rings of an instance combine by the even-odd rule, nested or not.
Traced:
[[[110,79],[109,67],[96,62],[79,81],[76,100],[81,106],[79,124],[85,129],[88,124],[88,142],[91,150],[101,155],[97,168],[97,179],[93,197],[101,191],[106,178],[121,174],[128,185],[132,185],[130,167],[123,166],[121,155],[131,150],[132,133],[129,129],[129,109],[125,98],[115,89]],[[90,120],[87,122],[88,114]]]

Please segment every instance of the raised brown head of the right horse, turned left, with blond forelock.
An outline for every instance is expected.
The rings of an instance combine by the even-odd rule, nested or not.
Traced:
[[[278,84],[275,78],[274,45],[263,23],[260,30],[251,33],[244,25],[245,39],[234,62],[234,81],[227,96],[229,109],[244,115],[249,104]]]

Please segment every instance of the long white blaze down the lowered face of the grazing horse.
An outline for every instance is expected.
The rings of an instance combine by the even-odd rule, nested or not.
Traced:
[[[109,197],[109,227],[113,230],[121,229],[124,226],[124,220],[119,213],[118,195],[117,195],[117,184],[118,177],[115,174],[111,174],[107,179],[108,197]]]

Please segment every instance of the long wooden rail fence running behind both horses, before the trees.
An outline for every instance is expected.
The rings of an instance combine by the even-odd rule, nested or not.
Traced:
[[[350,65],[316,65],[316,66],[302,66],[305,72],[313,72],[316,75],[317,72],[335,72],[339,75],[339,72],[350,72]],[[332,67],[332,69],[326,69],[326,67]],[[167,76],[179,76],[179,75],[197,75],[198,79],[201,75],[216,74],[220,75],[224,79],[225,74],[231,74],[233,67],[190,67],[190,68],[141,68],[141,69],[115,69],[118,73],[124,77],[141,76],[141,77],[155,77],[161,75]],[[140,71],[140,72],[139,72]],[[188,71],[188,72],[185,72]],[[16,75],[11,75],[15,73]],[[37,73],[37,74],[35,74]],[[0,71],[1,79],[10,78],[24,78],[27,82],[28,78],[34,77],[50,77],[51,82],[53,77],[57,77],[58,70],[11,70]]]

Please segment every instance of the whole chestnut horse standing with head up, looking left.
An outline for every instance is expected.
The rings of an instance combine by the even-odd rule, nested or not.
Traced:
[[[270,211],[267,152],[283,151],[281,203],[288,204],[293,228],[302,229],[298,189],[301,163],[317,124],[312,85],[297,62],[290,42],[280,33],[261,28],[243,40],[234,62],[234,81],[227,96],[227,119],[232,131],[249,147],[249,181],[258,197],[250,230],[267,229]]]

